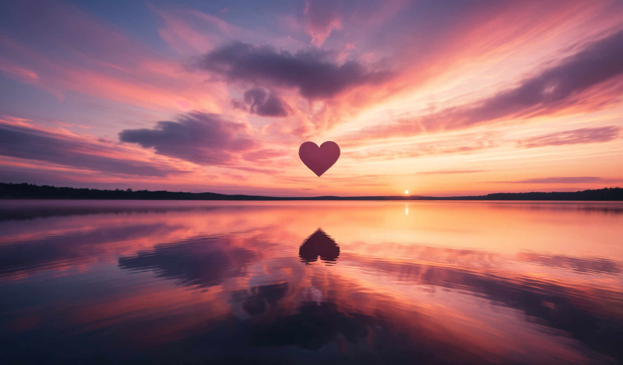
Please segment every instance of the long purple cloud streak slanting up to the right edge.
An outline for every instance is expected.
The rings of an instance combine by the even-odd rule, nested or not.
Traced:
[[[621,75],[623,31],[592,42],[578,53],[563,59],[558,65],[492,97],[447,108],[438,113],[404,118],[390,125],[370,126],[351,137],[417,135],[426,131],[468,128],[503,118],[530,118],[573,106],[602,106],[616,102],[619,93],[612,88],[595,88],[596,85],[607,81],[621,81]]]

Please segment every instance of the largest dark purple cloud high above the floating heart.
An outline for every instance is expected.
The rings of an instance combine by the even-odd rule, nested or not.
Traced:
[[[330,55],[322,50],[292,54],[269,45],[233,42],[203,55],[192,67],[231,81],[298,88],[303,97],[310,99],[330,98],[348,88],[381,82],[390,75],[368,70],[358,62],[336,64],[329,60]]]

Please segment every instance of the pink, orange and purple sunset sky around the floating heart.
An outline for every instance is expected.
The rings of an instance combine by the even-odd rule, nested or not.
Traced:
[[[623,186],[621,1],[6,1],[0,182],[272,196]],[[335,141],[318,177],[305,141]]]

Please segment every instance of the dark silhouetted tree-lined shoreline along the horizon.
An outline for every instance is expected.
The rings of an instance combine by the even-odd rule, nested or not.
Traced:
[[[100,190],[0,182],[0,199],[92,199],[92,200],[216,200],[216,201],[623,201],[622,187],[574,192],[497,192],[481,196],[315,196],[275,197],[216,192]]]

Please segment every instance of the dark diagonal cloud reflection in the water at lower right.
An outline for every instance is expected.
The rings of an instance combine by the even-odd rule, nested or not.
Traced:
[[[375,261],[371,265],[384,275],[397,274],[400,280],[435,288],[467,290],[484,296],[495,305],[520,310],[528,318],[538,318],[549,328],[561,329],[599,353],[623,359],[623,317],[618,308],[621,292],[591,292],[566,287],[555,280],[518,277],[505,278],[463,268],[417,263]],[[616,306],[616,304],[615,304]],[[599,311],[601,308],[602,311]],[[614,310],[617,314],[612,316]]]

